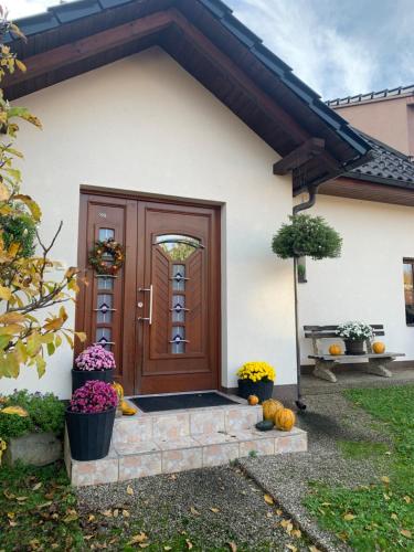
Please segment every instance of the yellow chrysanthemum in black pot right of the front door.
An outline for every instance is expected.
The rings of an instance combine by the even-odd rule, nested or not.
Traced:
[[[275,369],[267,362],[246,362],[237,370],[238,396],[256,395],[261,402],[273,395]]]

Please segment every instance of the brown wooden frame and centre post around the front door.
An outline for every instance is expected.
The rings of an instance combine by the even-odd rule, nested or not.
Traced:
[[[107,192],[107,193],[106,193]],[[178,212],[210,212],[211,213],[211,248],[209,255],[210,270],[212,278],[208,296],[215,297],[210,305],[211,314],[209,316],[209,333],[214,342],[214,351],[212,362],[215,364],[214,379],[212,389],[221,389],[221,209],[220,205],[198,203],[185,200],[159,199],[137,195],[134,193],[116,193],[113,190],[99,189],[99,193],[91,190],[81,190],[79,205],[79,226],[78,226],[78,267],[85,270],[88,278],[93,277],[92,270],[87,269],[88,244],[87,236],[87,213],[88,202],[98,202],[107,205],[123,205],[128,213],[125,223],[125,241],[126,241],[126,263],[125,263],[125,282],[124,283],[124,301],[125,305],[123,316],[123,374],[126,392],[137,394],[140,391],[140,362],[142,358],[142,328],[137,322],[139,316],[145,316],[142,309],[137,307],[137,302],[142,300],[138,294],[138,286],[144,282],[144,264],[138,263],[139,252],[145,250],[145,233],[138,231],[138,224],[141,224],[138,210],[141,204],[159,205],[160,209],[177,210]],[[145,222],[145,221],[144,221]],[[214,248],[214,255],[212,254]],[[137,267],[137,268],[136,268]],[[87,305],[87,299],[91,299],[91,294],[84,284],[81,284],[81,291],[76,305],[76,329],[84,330],[87,326],[87,312],[92,312],[93,306]],[[146,301],[144,301],[146,302]],[[145,305],[145,309],[147,305]],[[132,329],[134,328],[134,329]],[[91,339],[91,338],[89,338]],[[76,353],[82,350],[83,344],[76,344]],[[185,386],[187,385],[187,386]],[[188,389],[185,376],[182,381],[182,391]],[[191,385],[190,385],[191,388]]]

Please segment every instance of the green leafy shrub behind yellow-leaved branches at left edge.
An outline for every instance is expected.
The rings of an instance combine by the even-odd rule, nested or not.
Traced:
[[[19,257],[31,257],[35,250],[36,225],[30,216],[0,216],[0,229],[6,247],[20,245]]]

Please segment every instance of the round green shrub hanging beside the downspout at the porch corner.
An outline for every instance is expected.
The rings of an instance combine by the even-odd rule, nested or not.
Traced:
[[[321,216],[297,214],[289,216],[274,236],[272,250],[278,257],[311,257],[315,261],[339,257],[342,238]]]

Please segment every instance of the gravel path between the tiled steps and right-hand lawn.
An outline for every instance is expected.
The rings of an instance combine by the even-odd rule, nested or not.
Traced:
[[[307,397],[307,406],[298,425],[308,432],[308,453],[243,458],[240,464],[248,476],[297,520],[319,548],[329,551],[349,550],[330,533],[320,530],[302,507],[308,482],[354,487],[372,481],[374,473],[371,461],[350,461],[343,458],[338,442],[389,444],[389,440],[376,422],[352,406],[341,394]]]

